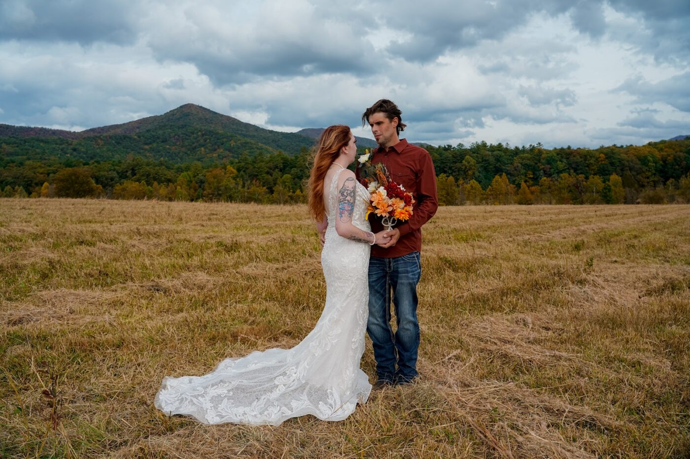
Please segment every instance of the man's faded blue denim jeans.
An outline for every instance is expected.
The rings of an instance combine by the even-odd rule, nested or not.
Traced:
[[[366,332],[373,343],[378,380],[405,383],[417,376],[417,283],[421,275],[420,252],[397,258],[369,258]],[[397,323],[395,334],[391,328],[391,294]]]

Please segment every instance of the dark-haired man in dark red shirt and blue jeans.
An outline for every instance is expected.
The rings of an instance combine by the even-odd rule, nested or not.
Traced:
[[[384,163],[391,179],[411,192],[416,201],[410,219],[399,222],[386,234],[391,241],[371,248],[366,331],[376,359],[374,389],[408,384],[417,376],[417,348],[420,346],[417,283],[422,274],[422,225],[438,207],[431,156],[423,148],[398,138],[406,126],[401,114],[397,105],[388,99],[377,101],[362,114],[362,125],[371,126],[371,133],[379,145],[372,152],[371,163]],[[359,168],[356,171],[359,179]],[[371,230],[382,229],[380,221],[372,218]],[[391,328],[391,298],[397,322],[395,334]]]

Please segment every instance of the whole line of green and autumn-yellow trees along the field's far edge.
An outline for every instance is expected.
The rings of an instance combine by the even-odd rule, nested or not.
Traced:
[[[597,149],[486,142],[424,147],[434,161],[442,205],[690,202],[690,140]],[[186,163],[131,152],[108,161],[30,159],[8,154],[2,144],[0,194],[303,203],[310,156],[301,147],[295,154],[254,150]]]

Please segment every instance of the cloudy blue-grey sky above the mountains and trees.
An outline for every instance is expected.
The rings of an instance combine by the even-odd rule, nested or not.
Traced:
[[[690,134],[688,0],[0,0],[0,123],[197,103],[295,131],[395,101],[411,141]]]

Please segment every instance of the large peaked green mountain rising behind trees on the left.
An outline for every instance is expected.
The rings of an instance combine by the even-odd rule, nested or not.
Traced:
[[[242,154],[297,154],[313,139],[244,123],[188,103],[165,114],[82,132],[0,125],[0,154],[14,161],[146,159],[209,163]]]

